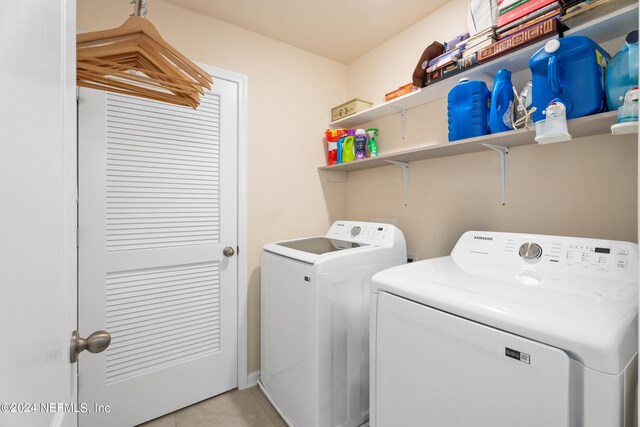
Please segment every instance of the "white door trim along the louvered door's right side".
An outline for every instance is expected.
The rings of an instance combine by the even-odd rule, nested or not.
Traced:
[[[250,385],[247,375],[247,76],[244,74],[198,63],[202,69],[213,76],[213,84],[216,79],[223,79],[235,83],[238,87],[238,389],[242,390]]]

